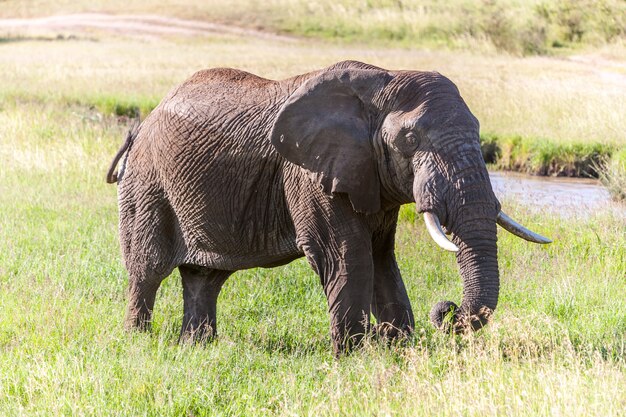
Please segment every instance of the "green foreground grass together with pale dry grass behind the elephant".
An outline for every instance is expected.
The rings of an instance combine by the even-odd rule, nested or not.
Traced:
[[[127,128],[116,115],[145,113],[200,68],[281,78],[346,58],[439,69],[483,131],[503,138],[626,142],[623,90],[578,62],[230,37],[1,43],[0,414],[623,413],[626,222],[611,212],[564,219],[504,201],[555,242],[501,232],[494,322],[467,337],[428,322],[462,285],[410,206],[397,236],[417,321],[405,346],[372,341],[334,360],[319,279],[303,260],[235,274],[219,300],[220,338],[207,347],[176,343],[177,273],[159,291],[154,331],[123,331],[116,191],[104,182]]]

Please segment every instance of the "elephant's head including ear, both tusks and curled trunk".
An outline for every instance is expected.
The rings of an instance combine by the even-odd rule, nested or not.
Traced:
[[[455,330],[478,329],[496,308],[496,223],[527,240],[549,242],[500,211],[478,120],[456,86],[436,72],[339,63],[289,97],[270,137],[327,193],[347,193],[358,212],[416,203],[435,242],[456,252],[463,278],[460,308],[445,301],[431,311],[439,328],[447,327],[444,317],[453,311]]]

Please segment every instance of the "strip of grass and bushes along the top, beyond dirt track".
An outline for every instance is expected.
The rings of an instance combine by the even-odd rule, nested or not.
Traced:
[[[161,13],[329,40],[481,48],[515,55],[623,42],[622,0],[5,0],[0,16],[59,12]]]

